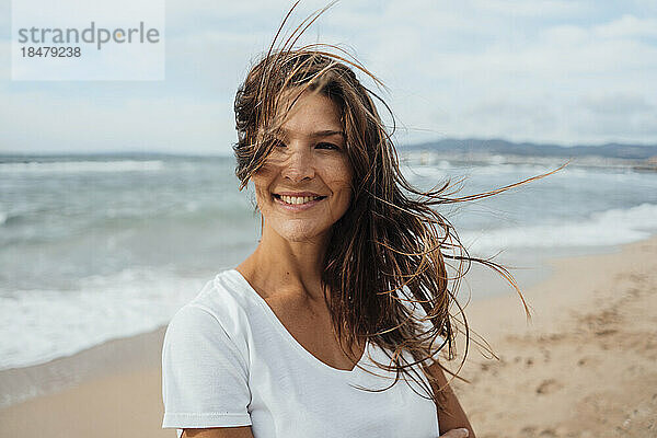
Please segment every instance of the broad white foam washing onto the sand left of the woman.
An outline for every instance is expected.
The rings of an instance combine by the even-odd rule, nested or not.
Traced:
[[[18,290],[0,297],[0,370],[44,364],[166,324],[203,280],[126,269],[80,289]]]

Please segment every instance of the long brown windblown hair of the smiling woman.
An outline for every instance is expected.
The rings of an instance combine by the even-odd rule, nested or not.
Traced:
[[[382,82],[338,46],[311,44],[293,48],[306,28],[333,3],[307,18],[283,47],[275,48],[297,4],[298,1],[283,21],[269,50],[252,66],[235,96],[239,140],[233,150],[240,191],[276,145],[276,132],[289,111],[289,107],[281,110],[284,92],[298,90],[300,94],[309,90],[328,96],[337,105],[353,169],[353,197],[346,214],[333,226],[322,281],[336,334],[349,347],[345,349],[341,344],[341,348],[347,354],[358,338],[367,338],[384,351],[392,351],[390,364],[377,362],[381,369],[396,371],[392,384],[400,374],[407,374],[439,404],[442,388],[434,391],[435,379],[424,365],[436,360],[446,372],[458,377],[465,361],[472,334],[457,300],[457,290],[472,262],[492,267],[506,278],[517,290],[528,320],[531,319],[510,273],[489,260],[470,256],[454,228],[440,214],[441,206],[492,196],[550,175],[565,164],[543,175],[464,197],[450,197],[456,192],[448,193],[452,187],[449,178],[427,192],[414,187],[400,171],[391,139],[394,117],[389,134],[373,99],[379,100],[391,116],[392,112],[382,99],[362,85],[353,68],[384,87]],[[448,276],[446,260],[459,263],[453,278]],[[453,281],[451,290],[450,280]],[[419,303],[426,315],[414,314],[404,300],[411,301],[411,306]],[[452,304],[457,306],[462,320],[458,314],[450,314]],[[447,360],[458,356],[458,333],[464,334],[465,346],[462,361],[452,372],[437,361],[437,356],[440,351]],[[408,361],[403,351],[408,351],[413,360]],[[418,364],[423,365],[419,368],[431,383],[430,388],[413,377],[417,376]]]

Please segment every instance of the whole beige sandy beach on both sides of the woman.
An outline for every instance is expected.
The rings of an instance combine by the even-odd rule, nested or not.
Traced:
[[[472,383],[453,382],[477,437],[657,437],[657,237],[550,264],[554,275],[523,290],[532,325],[516,295],[466,308],[500,358],[471,344],[461,376]],[[1,436],[174,437],[160,428],[162,336],[0,372],[3,396],[27,382],[51,392],[0,410]]]

